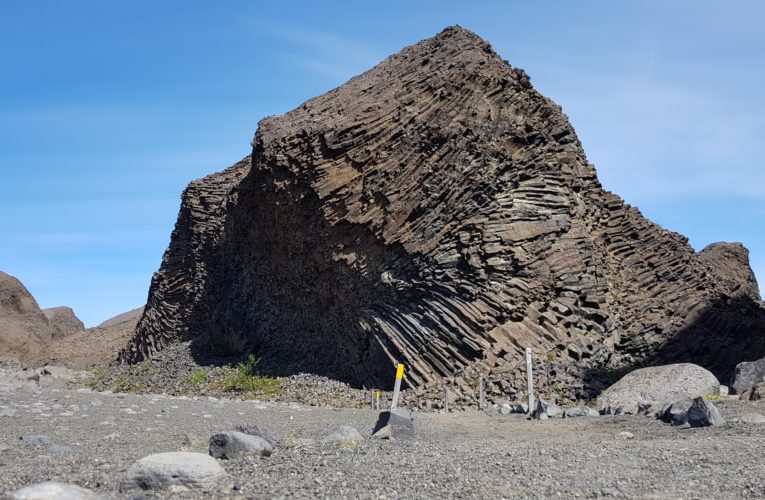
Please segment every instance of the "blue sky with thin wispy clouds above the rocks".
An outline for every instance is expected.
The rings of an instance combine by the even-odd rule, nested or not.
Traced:
[[[326,6],[324,6],[326,4]],[[765,282],[765,2],[0,4],[0,270],[91,326],[143,304],[184,186],[448,25],[563,106],[604,186]]]

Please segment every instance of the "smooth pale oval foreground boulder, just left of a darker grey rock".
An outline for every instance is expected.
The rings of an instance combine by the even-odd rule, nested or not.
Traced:
[[[149,455],[133,463],[120,485],[122,491],[140,488],[209,490],[226,477],[210,455],[174,451]]]

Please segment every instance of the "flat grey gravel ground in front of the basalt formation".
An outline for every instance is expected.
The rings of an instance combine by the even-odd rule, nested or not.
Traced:
[[[257,426],[274,454],[221,461],[216,497],[750,498],[765,497],[765,402],[718,403],[729,424],[675,428],[649,417],[543,422],[477,411],[415,413],[409,441],[367,438],[355,448],[288,446],[340,425],[369,436],[376,412],[296,403],[104,394],[2,383],[0,493],[55,479],[130,498],[119,482],[135,460],[165,451],[205,453],[209,437]],[[633,434],[632,438],[620,435]],[[44,434],[48,444],[21,436]],[[64,447],[64,448],[62,448]],[[167,493],[146,492],[147,498]],[[176,493],[174,497],[202,497]]]

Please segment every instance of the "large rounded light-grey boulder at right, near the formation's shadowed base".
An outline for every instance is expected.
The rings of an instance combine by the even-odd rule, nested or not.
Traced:
[[[638,414],[684,399],[717,394],[712,372],[691,363],[640,368],[622,377],[598,397],[602,414]]]

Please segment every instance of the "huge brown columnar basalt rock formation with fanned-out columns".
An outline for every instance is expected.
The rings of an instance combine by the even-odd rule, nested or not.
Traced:
[[[728,253],[603,190],[561,108],[452,27],[263,119],[252,154],[189,185],[121,359],[191,340],[383,387],[403,362],[418,391],[468,397],[477,374],[522,391],[527,346],[586,393],[690,343],[726,378],[765,355],[751,270]]]

